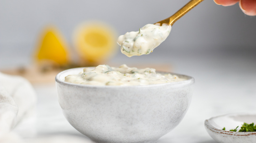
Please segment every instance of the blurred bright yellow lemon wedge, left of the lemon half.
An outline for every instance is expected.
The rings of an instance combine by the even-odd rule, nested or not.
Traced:
[[[69,63],[67,44],[57,28],[49,26],[43,29],[36,51],[36,60],[39,63],[51,62],[60,66]]]

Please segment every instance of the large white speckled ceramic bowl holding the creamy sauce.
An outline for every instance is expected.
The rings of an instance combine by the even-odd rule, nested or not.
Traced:
[[[74,68],[57,74],[58,101],[69,123],[98,143],[155,143],[184,117],[194,78],[147,86],[93,86],[64,82]]]

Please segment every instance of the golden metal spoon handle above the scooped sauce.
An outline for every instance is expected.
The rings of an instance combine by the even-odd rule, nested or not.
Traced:
[[[183,15],[185,15],[189,10],[197,6],[199,3],[201,3],[203,0],[191,0],[189,1],[184,7],[182,7],[180,10],[178,10],[176,13],[174,13],[171,17],[166,18],[160,22],[157,22],[155,24],[168,24],[173,25],[178,19],[180,19]]]

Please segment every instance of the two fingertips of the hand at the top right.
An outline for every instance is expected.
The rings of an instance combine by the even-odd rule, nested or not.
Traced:
[[[256,15],[256,0],[214,0],[214,2],[223,6],[232,6],[239,2],[239,7],[246,15]]]

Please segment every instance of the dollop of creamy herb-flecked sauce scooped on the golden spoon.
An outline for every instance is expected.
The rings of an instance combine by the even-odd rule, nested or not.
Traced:
[[[117,39],[121,52],[128,57],[149,54],[169,35],[171,26],[147,24],[137,32],[127,32]]]

